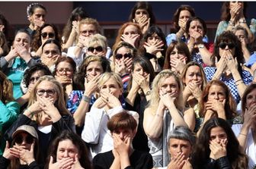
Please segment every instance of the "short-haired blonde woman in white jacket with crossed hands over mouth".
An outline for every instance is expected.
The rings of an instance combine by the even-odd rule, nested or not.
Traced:
[[[113,149],[113,139],[107,130],[107,121],[123,111],[123,83],[118,74],[104,73],[98,80],[100,97],[94,102],[91,111],[85,116],[82,139],[90,144],[92,158],[100,152]],[[139,122],[139,114],[127,111]]]

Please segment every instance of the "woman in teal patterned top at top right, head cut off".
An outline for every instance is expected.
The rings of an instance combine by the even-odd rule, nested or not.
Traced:
[[[223,2],[221,20],[216,30],[215,41],[224,31],[242,26],[248,32],[249,42],[253,42],[256,33],[256,20],[248,20],[246,9],[248,2]]]

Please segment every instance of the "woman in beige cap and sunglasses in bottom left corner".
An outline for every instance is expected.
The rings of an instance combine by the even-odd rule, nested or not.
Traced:
[[[38,135],[34,127],[22,125],[11,135],[11,146],[6,141],[5,152],[0,156],[0,168],[43,168],[38,164],[40,152]]]

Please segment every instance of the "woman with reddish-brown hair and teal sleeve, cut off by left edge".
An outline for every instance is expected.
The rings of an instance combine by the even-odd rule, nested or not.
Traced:
[[[5,149],[5,140],[3,135],[5,131],[11,127],[11,124],[17,119],[20,113],[20,106],[15,102],[12,95],[12,83],[2,71],[0,71],[0,155]]]

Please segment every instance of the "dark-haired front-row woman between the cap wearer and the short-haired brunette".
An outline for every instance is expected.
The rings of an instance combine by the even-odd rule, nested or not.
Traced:
[[[72,131],[63,130],[51,143],[45,168],[91,169],[85,142]]]

